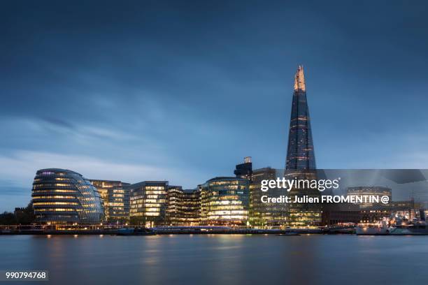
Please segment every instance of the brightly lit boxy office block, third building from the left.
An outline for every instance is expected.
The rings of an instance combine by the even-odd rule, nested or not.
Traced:
[[[166,222],[167,181],[144,181],[127,186],[130,189],[130,222],[152,227]]]

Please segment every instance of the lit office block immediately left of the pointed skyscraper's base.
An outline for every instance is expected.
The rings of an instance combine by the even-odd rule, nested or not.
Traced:
[[[287,195],[285,189],[270,189],[263,192],[262,180],[276,180],[274,168],[261,168],[252,172],[250,184],[250,225],[255,228],[284,228],[287,224],[285,203],[262,203],[262,196],[279,197]]]

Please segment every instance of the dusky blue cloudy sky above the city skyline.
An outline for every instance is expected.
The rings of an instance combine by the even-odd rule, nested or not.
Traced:
[[[0,212],[36,170],[184,188],[283,168],[305,69],[318,168],[427,168],[426,1],[6,1]]]

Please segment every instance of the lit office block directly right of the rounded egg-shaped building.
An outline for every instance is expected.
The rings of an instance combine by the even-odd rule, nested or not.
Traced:
[[[97,187],[104,201],[106,221],[113,224],[124,224],[129,221],[128,183],[112,180],[90,180]]]

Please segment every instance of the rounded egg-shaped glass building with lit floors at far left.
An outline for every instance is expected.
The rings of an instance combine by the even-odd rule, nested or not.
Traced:
[[[99,191],[82,175],[71,170],[38,170],[31,196],[36,222],[95,224],[104,220],[104,205]]]

